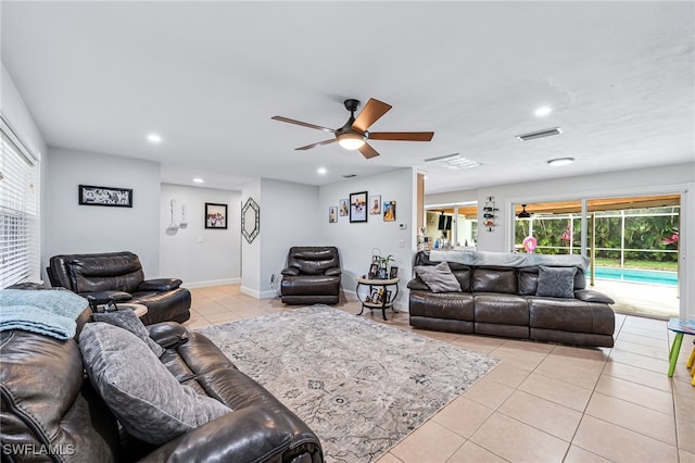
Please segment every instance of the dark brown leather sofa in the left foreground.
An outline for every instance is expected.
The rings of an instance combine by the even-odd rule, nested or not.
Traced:
[[[78,318],[88,322],[87,309]],[[232,411],[162,445],[128,435],[85,376],[77,337],[0,333],[2,462],[320,463],[316,435],[212,341],[173,322],[148,326],[180,384]]]

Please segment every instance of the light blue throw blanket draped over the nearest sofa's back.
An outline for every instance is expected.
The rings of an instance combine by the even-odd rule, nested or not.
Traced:
[[[0,290],[0,331],[24,329],[70,339],[75,336],[75,320],[87,299],[64,290]]]

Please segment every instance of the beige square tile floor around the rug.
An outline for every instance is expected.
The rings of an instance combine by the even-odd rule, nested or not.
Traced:
[[[192,290],[189,328],[295,309],[278,298],[257,300],[239,285]],[[338,309],[359,312],[356,302]],[[403,329],[406,313],[367,313]],[[683,341],[673,378],[673,335],[666,322],[616,317],[612,349],[581,349],[472,335],[415,330],[486,353],[502,363],[379,463],[680,462],[695,463],[695,387]]]

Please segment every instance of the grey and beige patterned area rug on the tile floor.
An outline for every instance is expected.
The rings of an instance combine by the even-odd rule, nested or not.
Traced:
[[[371,462],[500,361],[313,305],[200,329],[294,411],[327,462]]]

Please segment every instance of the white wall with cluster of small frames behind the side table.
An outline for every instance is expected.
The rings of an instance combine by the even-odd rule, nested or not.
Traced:
[[[320,187],[318,204],[319,226],[327,245],[337,246],[343,267],[342,287],[350,299],[355,299],[355,278],[366,274],[371,263],[372,250],[378,248],[381,255],[392,254],[393,265],[399,266],[400,293],[395,308],[407,311],[407,281],[410,279],[413,253],[416,249],[414,224],[417,220],[416,204],[417,173],[413,168],[402,168],[369,177],[356,177],[345,182]],[[350,223],[350,216],[338,216],[337,223],[328,222],[328,208],[338,207],[341,199],[350,193],[367,191],[367,196],[381,195],[381,202],[396,201],[395,222],[384,222],[382,215],[368,215],[366,223]],[[406,229],[399,228],[404,224]],[[401,247],[403,241],[403,247]]]

